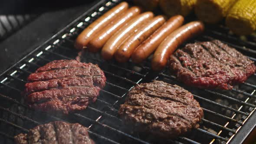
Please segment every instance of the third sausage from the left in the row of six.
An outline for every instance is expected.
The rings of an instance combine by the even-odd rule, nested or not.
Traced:
[[[103,59],[112,59],[118,46],[120,46],[128,36],[134,33],[135,30],[141,26],[141,24],[150,20],[153,16],[154,14],[152,12],[141,13],[126,23],[125,26],[121,27],[121,29],[119,29],[113,36],[111,36],[111,38],[108,39],[108,41],[103,46],[101,52]]]

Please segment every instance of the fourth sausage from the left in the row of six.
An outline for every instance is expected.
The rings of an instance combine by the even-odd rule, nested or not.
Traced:
[[[165,22],[164,16],[156,16],[127,39],[115,52],[118,62],[127,62],[134,49]]]

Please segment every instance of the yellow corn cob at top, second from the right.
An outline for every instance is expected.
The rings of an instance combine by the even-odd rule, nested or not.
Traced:
[[[222,20],[236,0],[197,0],[195,13],[206,23],[218,23]]]

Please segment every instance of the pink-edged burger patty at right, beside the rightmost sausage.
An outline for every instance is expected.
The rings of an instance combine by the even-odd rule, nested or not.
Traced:
[[[253,63],[219,40],[187,44],[170,57],[177,79],[199,88],[232,89],[255,73]]]

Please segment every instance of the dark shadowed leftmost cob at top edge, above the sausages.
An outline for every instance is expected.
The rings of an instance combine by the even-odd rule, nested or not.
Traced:
[[[133,2],[145,10],[154,10],[159,5],[159,0],[133,0]]]

